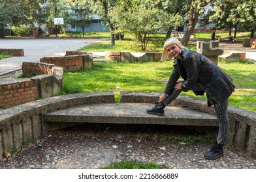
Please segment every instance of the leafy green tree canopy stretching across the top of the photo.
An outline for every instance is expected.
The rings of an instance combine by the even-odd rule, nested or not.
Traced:
[[[10,27],[54,27],[54,18],[64,18],[65,24],[75,22],[84,28],[95,12],[101,23],[110,30],[111,44],[115,34],[136,34],[142,49],[148,35],[155,31],[166,31],[166,38],[174,27],[186,23],[182,44],[187,45],[204,8],[211,3],[209,21],[218,29],[256,30],[255,0],[0,0],[0,29]],[[207,16],[206,16],[207,18]]]

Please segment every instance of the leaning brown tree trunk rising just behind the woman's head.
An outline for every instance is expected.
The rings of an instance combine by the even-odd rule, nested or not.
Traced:
[[[182,38],[182,41],[181,41],[182,45],[185,46],[188,44],[189,38],[195,29],[195,25],[197,24],[197,21],[199,21],[199,10],[195,10],[192,3],[189,10],[189,25]]]

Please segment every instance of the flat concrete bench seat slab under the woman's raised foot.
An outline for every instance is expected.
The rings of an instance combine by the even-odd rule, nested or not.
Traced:
[[[136,123],[218,126],[216,116],[180,107],[165,107],[165,116],[147,114],[151,103],[97,103],[44,114],[44,122]]]

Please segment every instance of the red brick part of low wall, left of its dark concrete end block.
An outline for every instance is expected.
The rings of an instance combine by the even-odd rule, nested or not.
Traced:
[[[82,55],[65,57],[42,57],[40,62],[62,66],[64,70],[78,70],[83,68]]]

